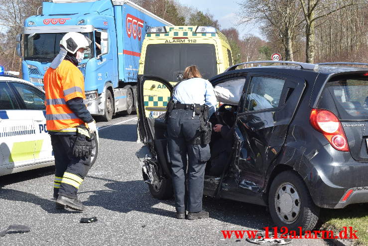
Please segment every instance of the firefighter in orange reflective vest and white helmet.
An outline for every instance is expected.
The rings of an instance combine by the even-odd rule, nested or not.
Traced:
[[[84,104],[84,77],[78,64],[91,41],[69,32],[60,41],[60,52],[44,76],[46,126],[55,157],[56,208],[83,211],[77,191],[89,171],[96,123]],[[87,129],[88,128],[88,129]]]

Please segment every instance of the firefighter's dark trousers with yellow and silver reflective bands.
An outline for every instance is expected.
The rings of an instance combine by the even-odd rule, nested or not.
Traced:
[[[77,199],[77,191],[90,169],[90,158],[73,155],[76,135],[51,135],[55,157],[54,197]]]

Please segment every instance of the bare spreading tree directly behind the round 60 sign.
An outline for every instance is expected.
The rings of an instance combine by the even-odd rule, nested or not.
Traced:
[[[301,6],[297,0],[246,0],[239,3],[243,21],[258,21],[263,29],[275,31],[285,51],[285,59],[293,60],[293,41],[303,24]]]

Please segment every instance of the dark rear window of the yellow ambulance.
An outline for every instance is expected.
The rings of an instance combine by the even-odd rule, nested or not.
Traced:
[[[144,73],[178,81],[179,73],[196,65],[204,79],[217,75],[216,49],[213,44],[149,44],[144,60]]]

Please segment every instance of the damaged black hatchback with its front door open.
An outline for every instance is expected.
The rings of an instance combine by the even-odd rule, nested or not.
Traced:
[[[210,121],[223,128],[212,134],[204,195],[268,206],[276,226],[303,231],[316,226],[320,208],[368,203],[368,64],[240,68],[249,63],[210,79],[220,102]],[[172,88],[156,76],[138,79],[137,156],[157,199],[173,197],[157,113]]]

